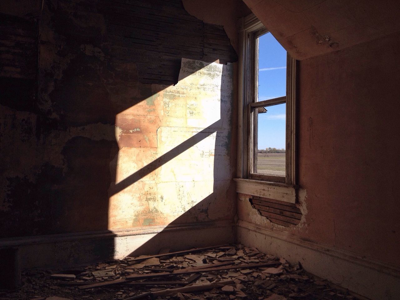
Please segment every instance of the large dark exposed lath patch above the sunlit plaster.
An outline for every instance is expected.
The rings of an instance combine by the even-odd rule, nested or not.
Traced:
[[[102,1],[101,10],[118,61],[135,62],[143,83],[175,84],[181,58],[237,60],[224,28],[191,16],[180,0]]]

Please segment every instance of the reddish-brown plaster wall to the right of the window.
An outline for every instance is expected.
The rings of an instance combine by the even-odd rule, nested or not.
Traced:
[[[342,267],[328,266],[326,257],[319,260],[319,255],[309,252],[321,245],[328,256],[344,250],[353,262],[361,258],[368,268],[374,260],[380,272],[395,270],[392,274],[398,282],[399,46],[396,33],[299,62],[298,207],[302,220],[288,228],[272,224],[242,194],[239,241],[287,255],[338,284],[359,284],[366,277],[343,279]],[[265,230],[251,229],[250,224]],[[252,236],[252,231],[258,233]],[[299,244],[303,248],[294,246]],[[342,275],[332,275],[335,270]],[[367,292],[367,286],[367,282],[359,285],[358,292]],[[392,299],[396,288],[389,296],[379,292],[380,297]]]

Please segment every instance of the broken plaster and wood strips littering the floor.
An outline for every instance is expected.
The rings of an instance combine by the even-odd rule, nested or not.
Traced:
[[[68,270],[27,270],[0,300],[356,299],[314,280],[301,264],[242,245],[126,257]]]

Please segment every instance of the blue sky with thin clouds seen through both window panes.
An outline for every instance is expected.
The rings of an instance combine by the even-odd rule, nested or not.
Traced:
[[[286,50],[270,34],[259,38],[258,101],[286,95]],[[258,149],[286,148],[286,104],[258,114]]]

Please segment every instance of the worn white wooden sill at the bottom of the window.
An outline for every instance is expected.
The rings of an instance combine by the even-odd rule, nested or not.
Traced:
[[[252,196],[296,203],[299,186],[253,179],[234,178],[236,192]]]

